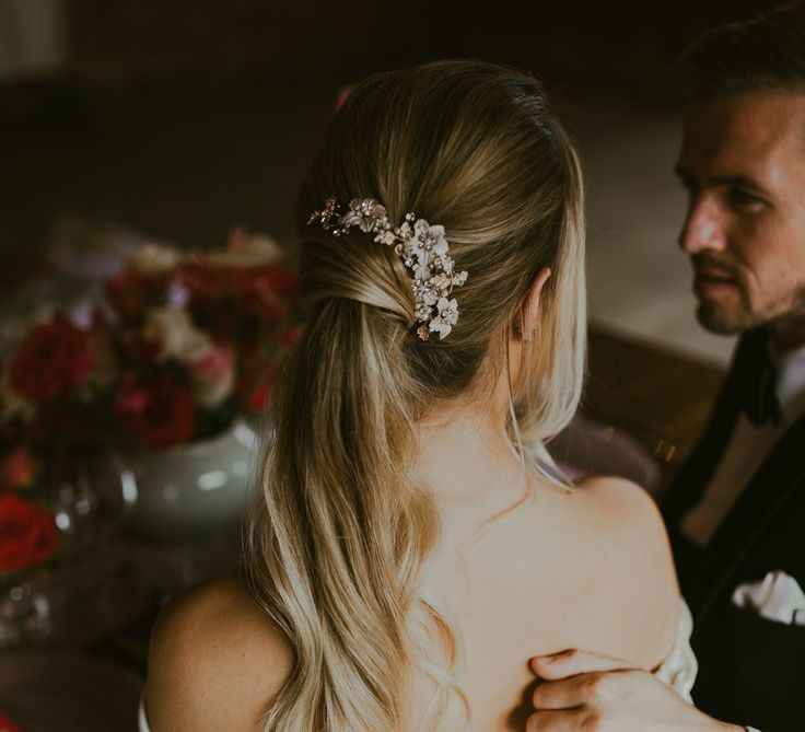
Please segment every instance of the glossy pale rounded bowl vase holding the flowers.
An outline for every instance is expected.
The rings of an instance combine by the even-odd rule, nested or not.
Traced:
[[[238,419],[213,438],[125,456],[126,525],[168,542],[234,533],[255,485],[258,442],[255,428]]]

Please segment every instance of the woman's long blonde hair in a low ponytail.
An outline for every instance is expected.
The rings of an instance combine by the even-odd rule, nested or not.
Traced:
[[[416,211],[445,228],[469,279],[444,340],[411,328],[411,281],[390,249],[357,229],[336,239],[306,225],[329,196],[374,197],[394,222]],[[427,586],[440,520],[409,477],[417,425],[488,397],[549,266],[508,433],[524,461],[523,442],[537,445],[535,466],[550,473],[542,445],[572,418],[584,373],[579,163],[529,74],[450,60],[375,75],[334,119],[299,235],[307,322],[273,386],[246,543],[254,595],[296,654],[265,729],[400,730],[410,669],[440,688],[433,729],[455,729],[460,643]]]

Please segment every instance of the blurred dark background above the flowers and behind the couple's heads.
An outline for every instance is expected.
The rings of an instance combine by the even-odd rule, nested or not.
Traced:
[[[675,245],[692,35],[762,0],[0,0],[0,283],[36,270],[67,218],[182,246],[235,224],[284,241],[339,88],[448,56],[534,70],[587,174],[598,324],[722,364]]]

